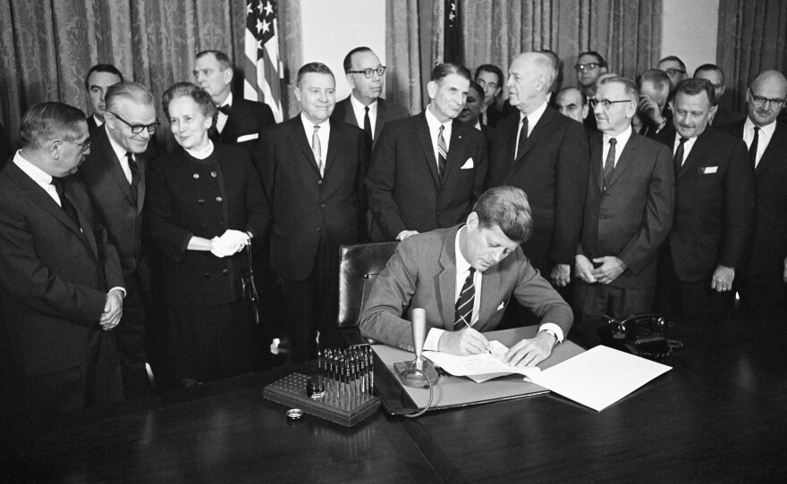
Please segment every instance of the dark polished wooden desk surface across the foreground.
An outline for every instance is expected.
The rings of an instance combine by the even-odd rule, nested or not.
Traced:
[[[288,424],[262,388],[303,368],[278,368],[38,424],[4,438],[0,481],[784,482],[784,322],[684,324],[673,371],[600,413],[548,395]]]

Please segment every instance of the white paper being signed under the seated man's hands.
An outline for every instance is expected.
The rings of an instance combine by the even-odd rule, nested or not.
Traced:
[[[453,376],[468,377],[477,383],[512,373],[534,377],[541,372],[540,368],[517,368],[503,363],[503,356],[508,351],[508,347],[499,341],[490,341],[489,351],[491,353],[468,356],[450,355],[441,351],[425,351],[424,356]]]

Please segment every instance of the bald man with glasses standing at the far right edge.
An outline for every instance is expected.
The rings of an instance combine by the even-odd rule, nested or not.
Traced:
[[[743,138],[754,170],[753,237],[735,285],[751,313],[787,309],[787,123],[777,120],[785,98],[783,74],[760,72],[746,92],[746,118],[721,127]]]

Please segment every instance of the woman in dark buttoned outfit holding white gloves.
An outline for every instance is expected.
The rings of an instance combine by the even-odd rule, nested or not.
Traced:
[[[180,82],[162,96],[179,148],[150,163],[148,223],[162,253],[167,360],[184,385],[250,371],[252,323],[240,291],[267,202],[249,154],[207,136],[216,106]]]

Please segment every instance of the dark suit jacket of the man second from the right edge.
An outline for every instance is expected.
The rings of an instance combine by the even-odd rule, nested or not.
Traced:
[[[673,150],[672,138],[661,136]],[[754,220],[754,176],[742,139],[708,127],[675,178],[670,250],[678,278],[707,280],[716,265],[740,271]]]

